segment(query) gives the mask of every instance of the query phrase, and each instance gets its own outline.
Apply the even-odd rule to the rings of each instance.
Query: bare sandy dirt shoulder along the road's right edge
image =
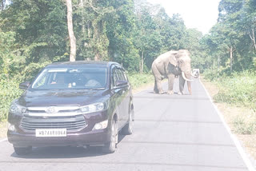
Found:
[[[218,93],[218,86],[214,85],[214,83],[206,81],[204,79],[201,79],[203,85],[205,85],[208,93],[210,93],[210,96],[213,98],[215,94]],[[235,124],[234,121],[238,119],[238,117],[247,117],[250,118],[251,116],[251,110],[246,109],[244,107],[238,107],[238,106],[232,106],[230,104],[226,103],[218,103],[214,101],[214,104],[218,107],[218,110],[220,113],[222,113],[222,116],[224,117],[226,123],[229,125],[232,133],[236,137],[238,137],[238,140],[246,150],[246,153],[249,153],[251,157],[256,159],[256,135],[255,134],[238,134],[235,132]]]

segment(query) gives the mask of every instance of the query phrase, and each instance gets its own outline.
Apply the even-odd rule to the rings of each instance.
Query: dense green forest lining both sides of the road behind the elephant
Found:
[[[159,54],[186,49],[193,68],[206,78],[246,74],[256,85],[255,0],[221,0],[208,34],[186,28],[179,14],[168,16],[146,0],[73,0],[72,5],[78,61],[114,61],[130,74],[146,74]],[[66,18],[64,0],[0,0],[0,121],[21,94],[20,82],[47,64],[70,60]],[[254,101],[254,89],[248,91],[246,101]]]

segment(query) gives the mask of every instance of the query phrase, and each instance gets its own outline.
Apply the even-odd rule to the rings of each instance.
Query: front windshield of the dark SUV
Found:
[[[105,89],[106,68],[50,68],[39,74],[32,89]]]

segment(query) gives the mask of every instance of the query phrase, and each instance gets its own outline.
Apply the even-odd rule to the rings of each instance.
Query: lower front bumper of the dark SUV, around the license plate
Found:
[[[101,146],[110,141],[108,129],[95,130],[88,133],[67,133],[66,137],[35,137],[35,133],[23,134],[9,130],[7,137],[8,141],[16,147]]]

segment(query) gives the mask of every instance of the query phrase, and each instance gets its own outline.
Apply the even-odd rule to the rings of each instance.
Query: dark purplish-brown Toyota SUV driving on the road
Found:
[[[10,106],[8,140],[17,154],[32,146],[102,146],[114,153],[118,132],[131,134],[131,86],[116,62],[58,62],[46,66]]]

